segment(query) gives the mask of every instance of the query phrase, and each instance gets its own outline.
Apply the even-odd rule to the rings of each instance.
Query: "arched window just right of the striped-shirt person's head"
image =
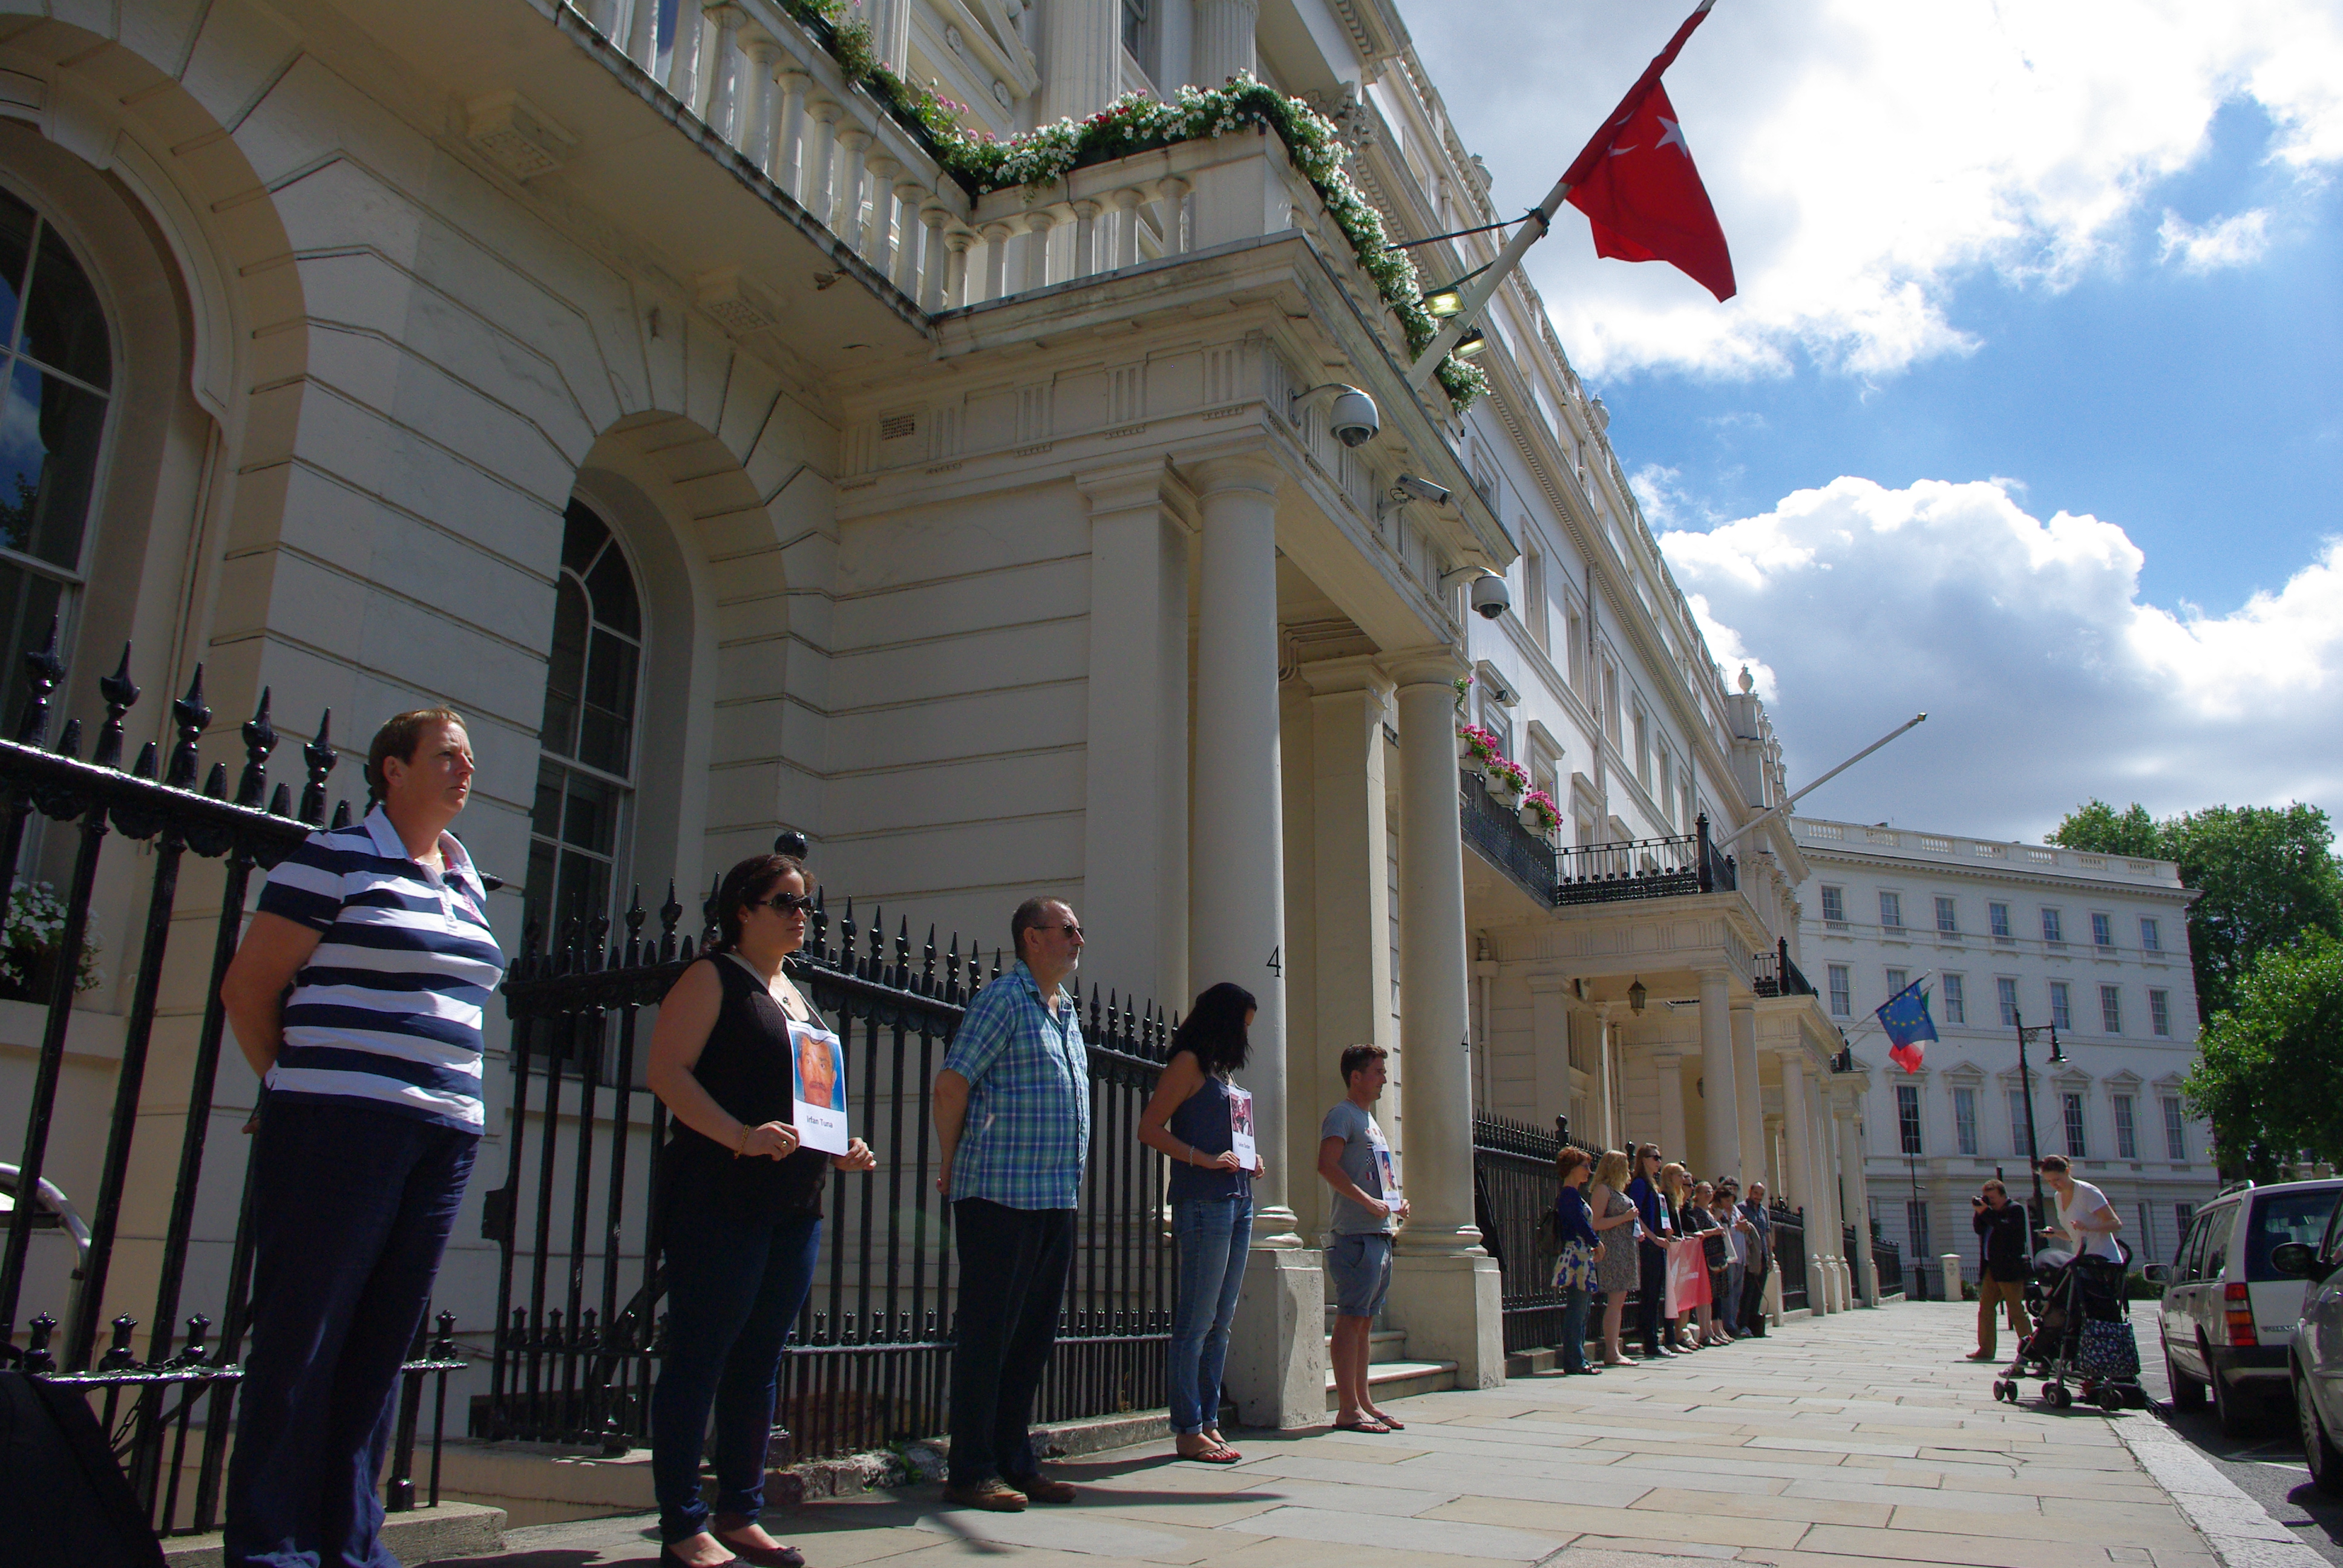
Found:
[[[612,914],[633,834],[642,598],[619,541],[581,502],[562,518],[555,595],[525,898],[546,942]]]

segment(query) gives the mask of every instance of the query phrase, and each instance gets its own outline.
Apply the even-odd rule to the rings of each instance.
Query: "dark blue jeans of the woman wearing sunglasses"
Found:
[[[813,1259],[820,1214],[747,1219],[675,1193],[663,1219],[668,1259],[668,1352],[651,1390],[651,1491],[658,1538],[691,1540],[708,1528],[701,1451],[708,1411],[717,1418],[719,1514],[764,1512],[764,1465],[790,1338]]]

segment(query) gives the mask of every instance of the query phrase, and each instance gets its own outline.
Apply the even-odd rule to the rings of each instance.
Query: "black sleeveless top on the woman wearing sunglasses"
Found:
[[[710,963],[717,966],[724,1001],[691,1076],[745,1127],[794,1123],[790,1015],[738,959],[717,954]],[[682,1120],[672,1127],[661,1172],[665,1202],[705,1205],[733,1219],[820,1216],[822,1181],[829,1177],[829,1155],[820,1148],[797,1148],[785,1160],[738,1158]]]

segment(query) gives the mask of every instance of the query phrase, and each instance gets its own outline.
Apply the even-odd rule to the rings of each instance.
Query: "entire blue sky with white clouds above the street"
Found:
[[[1687,0],[1401,9],[1518,213]],[[1720,0],[1668,91],[1741,295],[1528,272],[1792,780],[1931,713],[1809,806],[2343,813],[2343,0]]]

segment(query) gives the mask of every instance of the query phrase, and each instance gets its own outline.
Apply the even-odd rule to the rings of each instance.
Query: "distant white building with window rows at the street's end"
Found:
[[[1907,827],[1797,818],[1809,973],[1846,1029],[1870,1090],[1870,1216],[1905,1256],[1961,1254],[1975,1277],[1968,1200],[2001,1174],[2029,1200],[2017,1024],[2034,1137],[2106,1191],[2134,1266],[2170,1261],[2216,1191],[2209,1127],[2188,1116],[2195,1062],[2188,902],[2170,860],[2092,855]],[[1938,1043],[1919,1073],[1886,1057],[1872,1010],[1928,987]]]

